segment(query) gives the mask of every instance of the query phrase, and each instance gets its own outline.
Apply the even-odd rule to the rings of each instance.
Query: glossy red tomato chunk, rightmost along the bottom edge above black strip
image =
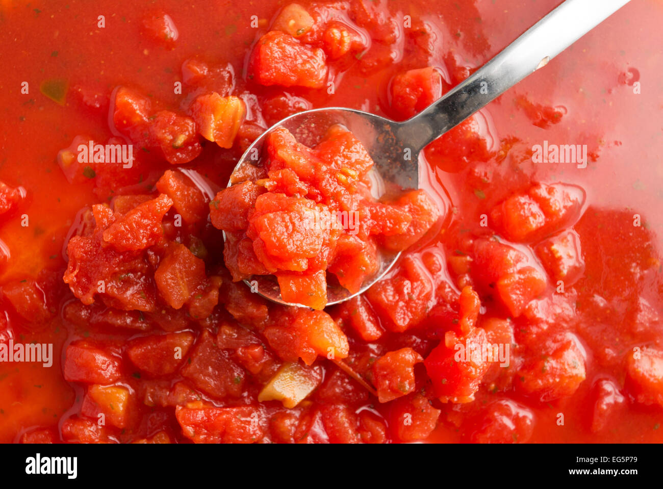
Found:
[[[534,431],[534,413],[512,400],[489,404],[481,415],[472,443],[526,443]]]

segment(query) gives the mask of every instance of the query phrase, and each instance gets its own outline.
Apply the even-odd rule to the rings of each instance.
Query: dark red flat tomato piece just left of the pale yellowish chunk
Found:
[[[182,375],[213,398],[238,398],[244,388],[245,373],[215,345],[213,336],[203,331],[188,358]]]

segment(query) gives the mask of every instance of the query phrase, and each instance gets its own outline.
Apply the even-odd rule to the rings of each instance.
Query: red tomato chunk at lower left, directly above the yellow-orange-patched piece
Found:
[[[120,359],[86,341],[74,341],[64,357],[64,378],[68,382],[111,384],[121,376]]]

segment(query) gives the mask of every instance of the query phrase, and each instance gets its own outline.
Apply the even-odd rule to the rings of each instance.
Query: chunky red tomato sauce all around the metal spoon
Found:
[[[0,3],[0,343],[53,351],[0,362],[0,441],[662,441],[659,2],[430,144],[440,219],[361,297],[223,265],[269,125],[411,117],[558,3]]]

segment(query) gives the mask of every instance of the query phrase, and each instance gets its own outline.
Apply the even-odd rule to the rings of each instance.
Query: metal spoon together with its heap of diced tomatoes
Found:
[[[367,290],[440,221],[443,209],[419,189],[420,151],[628,2],[566,0],[406,121],[331,107],[273,125],[212,202],[233,280],[314,309]]]

